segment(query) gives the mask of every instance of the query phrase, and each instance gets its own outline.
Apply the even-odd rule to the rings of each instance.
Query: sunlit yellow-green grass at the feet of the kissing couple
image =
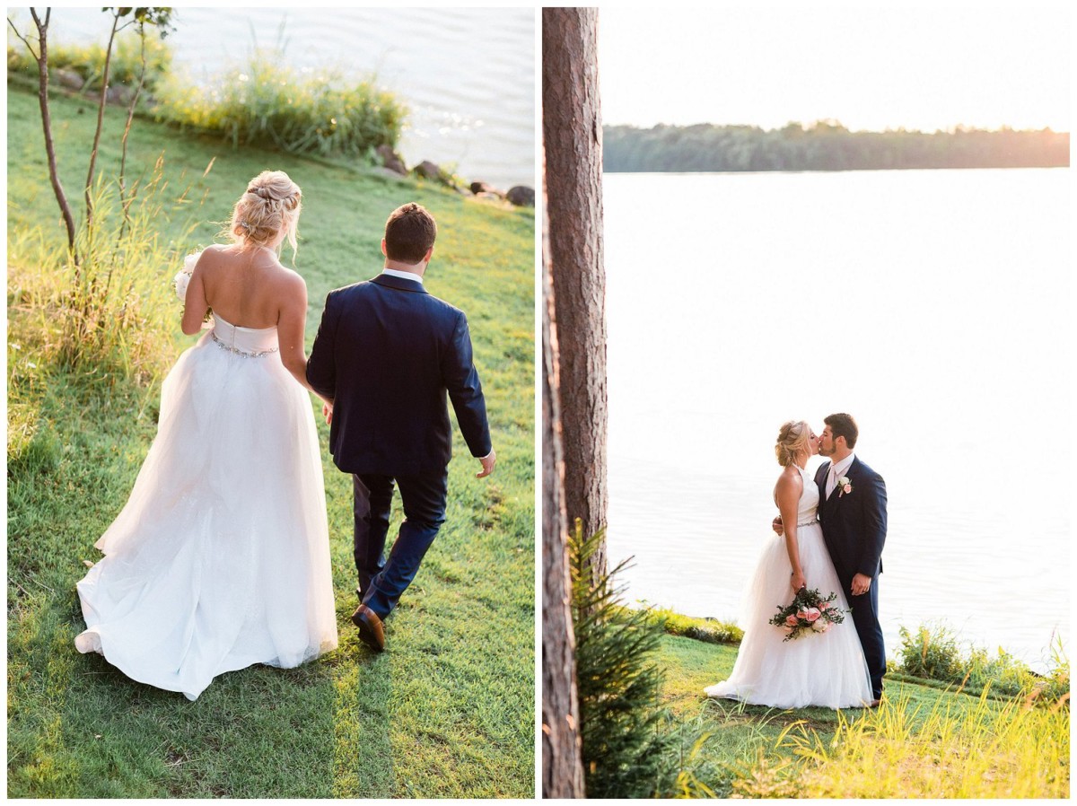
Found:
[[[656,657],[674,723],[705,737],[685,748],[685,766],[717,796],[1068,796],[1067,705],[1029,707],[894,675],[875,710],[707,698],[703,689],[729,677],[737,651],[663,636]]]

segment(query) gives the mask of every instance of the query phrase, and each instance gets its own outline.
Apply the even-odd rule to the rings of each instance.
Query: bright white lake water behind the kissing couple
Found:
[[[844,411],[889,494],[887,655],[928,621],[1068,649],[1067,170],[607,173],[604,207],[629,601],[736,620],[779,426]]]

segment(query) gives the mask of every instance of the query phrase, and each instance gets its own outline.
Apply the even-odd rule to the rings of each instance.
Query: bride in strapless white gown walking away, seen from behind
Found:
[[[278,260],[299,209],[288,175],[264,171],[233,211],[234,244],[198,259],[183,332],[210,307],[213,329],[165,379],[157,436],[78,584],[79,651],[188,699],[223,672],[337,645],[307,289]]]

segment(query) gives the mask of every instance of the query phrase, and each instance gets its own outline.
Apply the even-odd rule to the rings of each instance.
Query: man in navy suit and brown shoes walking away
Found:
[[[496,455],[472,360],[463,311],[423,288],[437,237],[433,216],[416,204],[386,222],[382,273],[331,291],[307,362],[307,380],[326,406],[330,451],[352,474],[354,556],[360,604],[351,620],[381,652],[382,622],[419,570],[445,523],[452,430],[446,394],[484,478]],[[393,486],[404,523],[384,556]]]

